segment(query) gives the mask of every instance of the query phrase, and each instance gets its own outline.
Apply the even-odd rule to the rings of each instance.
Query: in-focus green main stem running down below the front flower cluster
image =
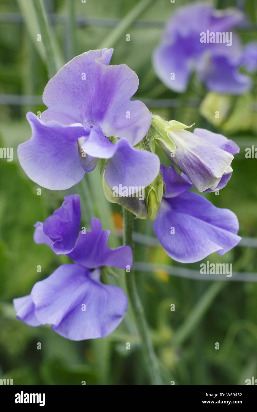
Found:
[[[133,250],[132,230],[133,230],[134,216],[131,212],[123,208],[123,243],[129,245]],[[141,344],[143,350],[143,356],[151,381],[151,385],[162,385],[162,379],[160,376],[158,360],[154,352],[153,344],[151,341],[150,333],[144,316],[144,308],[141,304],[138,292],[134,271],[128,274],[126,273],[127,291],[132,304],[135,320],[137,323],[137,329],[141,337]]]

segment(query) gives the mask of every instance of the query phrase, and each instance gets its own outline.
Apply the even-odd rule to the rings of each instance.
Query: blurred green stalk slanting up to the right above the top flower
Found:
[[[106,37],[99,45],[99,49],[109,49],[114,47],[120,37],[125,33],[135,20],[151,5],[153,0],[140,0],[135,7],[125,16],[124,19],[113,29],[113,31]]]

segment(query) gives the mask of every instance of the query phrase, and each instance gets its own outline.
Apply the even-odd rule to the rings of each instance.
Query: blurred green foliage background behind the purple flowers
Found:
[[[2,16],[20,14],[19,5],[24,0],[2,0]],[[27,4],[29,1],[27,2]],[[124,19],[138,1],[131,0],[74,0],[76,16],[96,19]],[[156,0],[139,17],[140,21],[165,22],[176,7],[188,1]],[[69,18],[70,2],[46,1],[50,12]],[[215,2],[217,8],[236,5],[236,1]],[[257,4],[245,1],[245,10],[251,23],[256,24]],[[47,83],[47,70],[40,57],[37,44],[32,42],[26,26],[10,21],[0,22],[0,94],[42,96]],[[30,20],[31,30],[35,21]],[[64,60],[74,55],[104,45],[113,28],[100,27],[99,22],[76,27],[75,50],[70,47],[70,29],[57,23],[53,31],[57,36]],[[125,34],[130,34],[126,42]],[[242,41],[257,40],[254,29],[239,31]],[[172,93],[160,83],[151,66],[151,53],[158,44],[161,28],[131,26],[120,36],[114,47],[112,64],[126,63],[139,77],[136,96],[144,99],[177,98],[176,108],[156,108],[152,112],[167,119],[177,119],[185,124],[196,122],[204,127],[223,132],[200,115],[199,107],[187,105],[186,98],[202,100],[207,90],[194,81],[186,95]],[[39,46],[39,45],[38,45]],[[255,86],[251,101],[256,99]],[[233,176],[219,196],[207,194],[216,206],[230,208],[240,222],[241,236],[256,237],[257,185],[256,159],[245,159],[245,147],[257,147],[256,113],[250,112],[243,101],[238,102],[233,123],[227,127],[226,136],[241,147],[233,162]],[[43,221],[61,204],[66,193],[51,192],[42,188],[37,196],[37,185],[25,175],[17,161],[17,145],[31,136],[25,114],[45,110],[43,104],[2,104],[0,110],[0,147],[14,148],[14,161],[0,159],[0,375],[13,379],[14,385],[147,385],[149,384],[139,350],[139,338],[130,311],[119,328],[101,339],[72,342],[54,333],[50,327],[32,328],[15,318],[12,299],[30,293],[33,284],[51,274],[64,262],[44,245],[33,242],[33,224]],[[233,115],[235,105],[229,108]],[[242,127],[245,116],[252,123]],[[40,154],[39,154],[40,155]],[[162,157],[162,155],[160,154]],[[162,157],[162,161],[166,160]],[[167,164],[166,164],[167,165]],[[90,192],[88,192],[88,190]],[[112,229],[109,245],[120,245],[121,210],[109,204],[101,189],[99,170],[89,173],[87,180],[69,192],[79,193],[83,199],[82,223],[88,227],[94,215],[101,218],[104,229]],[[150,220],[135,221],[135,230],[153,236]],[[223,257],[209,256],[210,262],[233,263],[233,270],[257,272],[256,248],[238,246]],[[135,261],[155,264],[137,272],[139,293],[151,328],[153,342],[161,365],[164,384],[170,385],[243,385],[245,379],[257,377],[257,283],[228,281],[212,283],[172,276],[158,265],[169,265],[199,271],[200,263],[180,265],[173,262],[158,246],[136,243]],[[37,273],[37,266],[42,273]],[[124,287],[124,274],[120,281]],[[257,280],[257,274],[256,274]],[[113,279],[109,279],[113,282]],[[205,299],[205,305],[201,304]],[[175,311],[170,311],[170,304]],[[41,342],[42,349],[37,349]],[[131,349],[126,350],[130,342]],[[220,349],[215,350],[215,342]]]

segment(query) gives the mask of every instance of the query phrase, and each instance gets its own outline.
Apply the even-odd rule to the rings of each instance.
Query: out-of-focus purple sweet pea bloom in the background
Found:
[[[239,71],[245,56],[232,32],[244,21],[240,10],[215,10],[206,2],[179,7],[153,53],[156,74],[177,93],[186,90],[193,72],[216,93],[246,93],[252,81]]]

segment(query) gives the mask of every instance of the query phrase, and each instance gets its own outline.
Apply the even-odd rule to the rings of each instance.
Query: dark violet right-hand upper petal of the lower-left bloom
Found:
[[[101,220],[91,219],[91,232],[80,232],[75,248],[68,254],[75,263],[87,268],[115,266],[125,269],[132,267],[133,257],[130,246],[120,246],[114,250],[107,245],[109,230],[102,229]]]

